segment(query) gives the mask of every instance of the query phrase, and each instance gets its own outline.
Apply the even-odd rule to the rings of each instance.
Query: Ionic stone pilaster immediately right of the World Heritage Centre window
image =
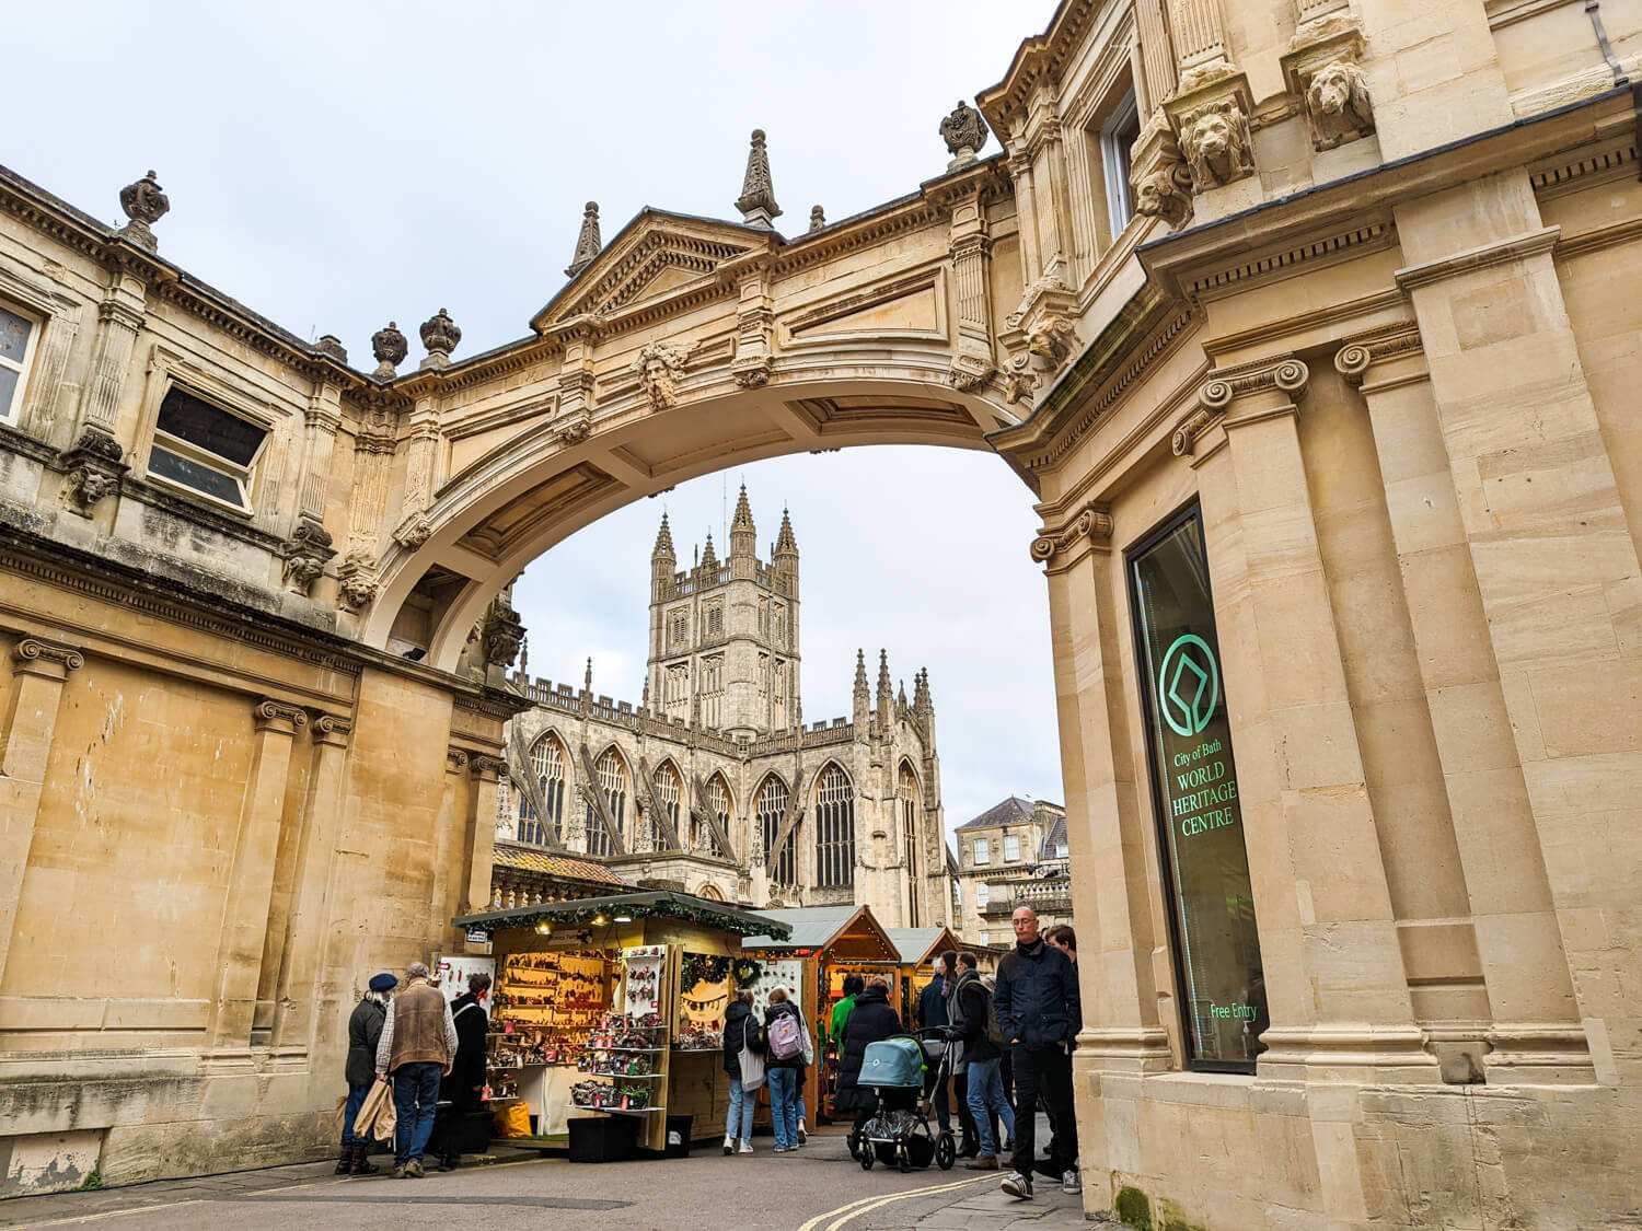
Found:
[[[1277,959],[1264,963],[1273,1024],[1259,1075],[1435,1082],[1409,1000],[1300,455],[1294,399],[1307,378],[1289,358],[1215,371],[1197,414],[1197,432],[1212,428],[1225,443],[1220,481],[1199,491],[1217,624],[1223,602],[1241,607],[1227,614],[1222,658],[1261,950],[1271,936]],[[1192,451],[1200,464],[1218,448]],[[1223,538],[1230,527],[1236,543]],[[1273,903],[1274,893],[1292,901]]]

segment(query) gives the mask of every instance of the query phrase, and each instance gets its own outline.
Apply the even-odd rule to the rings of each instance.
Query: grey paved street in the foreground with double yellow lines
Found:
[[[343,1178],[328,1164],[169,1180],[100,1193],[59,1193],[0,1203],[0,1226],[158,1228],[396,1228],[481,1223],[507,1228],[601,1231],[1051,1231],[1084,1226],[1082,1206],[1059,1187],[1031,1203],[998,1192],[998,1175],[957,1167],[862,1172],[844,1136],[828,1131],[800,1152],[726,1159],[718,1147],[688,1159],[575,1165],[562,1159],[463,1167],[425,1180]],[[388,1172],[384,1170],[383,1175]]]

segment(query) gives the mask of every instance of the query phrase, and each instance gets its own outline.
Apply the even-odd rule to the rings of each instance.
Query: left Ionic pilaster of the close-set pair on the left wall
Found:
[[[274,890],[291,745],[297,730],[307,725],[307,714],[269,699],[256,702],[253,721],[256,745],[240,804],[240,831],[217,942],[217,996],[205,1031],[205,1060],[212,1069],[251,1064],[251,1023]]]

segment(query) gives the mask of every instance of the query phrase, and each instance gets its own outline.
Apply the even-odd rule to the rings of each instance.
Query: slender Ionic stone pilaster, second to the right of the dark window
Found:
[[[1373,425],[1488,988],[1486,1046],[1473,1059],[1493,1082],[1591,1082],[1419,330],[1407,322],[1348,338],[1335,368],[1361,387]],[[1465,1041],[1430,1046],[1442,1055]]]

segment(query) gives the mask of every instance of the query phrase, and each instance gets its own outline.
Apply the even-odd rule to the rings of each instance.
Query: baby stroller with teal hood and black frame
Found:
[[[924,1064],[936,1065],[936,1085],[951,1075],[952,1047],[946,1027],[923,1031],[931,1041],[944,1046],[929,1047],[911,1036],[895,1036],[882,1042],[869,1042],[860,1062],[859,1088],[872,1088],[878,1106],[860,1126],[860,1134],[851,1134],[849,1152],[870,1172],[875,1162],[898,1164],[903,1172],[928,1167],[931,1160],[941,1170],[951,1170],[957,1159],[952,1134],[929,1129],[929,1100],[923,1096]],[[939,1050],[939,1055],[933,1052]],[[929,1088],[934,1090],[936,1085]]]

